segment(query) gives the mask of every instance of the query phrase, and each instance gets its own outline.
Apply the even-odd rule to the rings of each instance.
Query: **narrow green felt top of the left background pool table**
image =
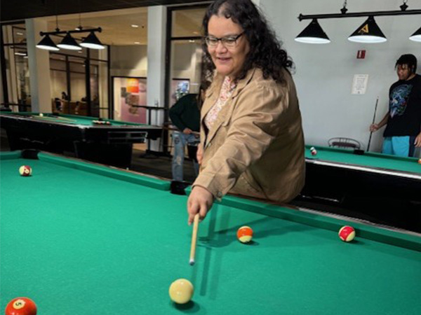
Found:
[[[1,115],[13,115],[13,116],[21,116],[21,117],[30,117],[33,120],[39,121],[46,121],[46,122],[55,122],[55,123],[66,123],[72,125],[86,125],[92,126],[94,120],[98,120],[96,117],[88,117],[88,116],[79,116],[79,115],[68,115],[68,114],[51,114],[51,113],[43,113],[44,116],[39,116],[39,113],[8,113],[2,112]],[[109,121],[112,123],[113,126],[140,126],[145,124],[140,123],[128,123],[122,122],[119,120],[111,120],[111,119],[104,119],[104,121]],[[103,125],[101,125],[103,126]],[[105,125],[106,126],[106,125]]]

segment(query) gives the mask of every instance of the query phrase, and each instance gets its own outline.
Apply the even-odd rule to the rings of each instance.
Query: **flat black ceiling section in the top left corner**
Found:
[[[50,15],[196,2],[198,0],[6,0],[1,1],[0,20],[9,22]]]

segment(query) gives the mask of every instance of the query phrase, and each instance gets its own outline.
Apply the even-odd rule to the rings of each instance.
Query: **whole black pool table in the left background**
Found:
[[[61,113],[43,113],[42,117],[39,113],[0,113],[11,150],[70,151],[76,158],[122,168],[131,166],[133,144],[161,137],[161,127],[117,120],[95,125],[98,119]]]

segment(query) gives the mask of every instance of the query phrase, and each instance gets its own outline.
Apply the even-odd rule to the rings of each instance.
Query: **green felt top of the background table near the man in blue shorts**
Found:
[[[305,157],[309,159],[421,174],[421,164],[418,163],[417,158],[402,158],[394,155],[372,152],[364,152],[363,155],[356,155],[353,153],[354,151],[349,149],[326,148],[322,146],[314,146],[317,155],[313,156],[312,153],[310,153],[311,147],[312,146],[306,146],[305,150]]]

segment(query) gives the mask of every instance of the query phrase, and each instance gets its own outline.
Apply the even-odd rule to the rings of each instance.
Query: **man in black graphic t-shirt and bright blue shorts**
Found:
[[[414,55],[401,55],[395,64],[399,80],[389,89],[389,111],[378,124],[370,125],[375,132],[386,126],[383,153],[413,156],[421,147],[421,76]]]

